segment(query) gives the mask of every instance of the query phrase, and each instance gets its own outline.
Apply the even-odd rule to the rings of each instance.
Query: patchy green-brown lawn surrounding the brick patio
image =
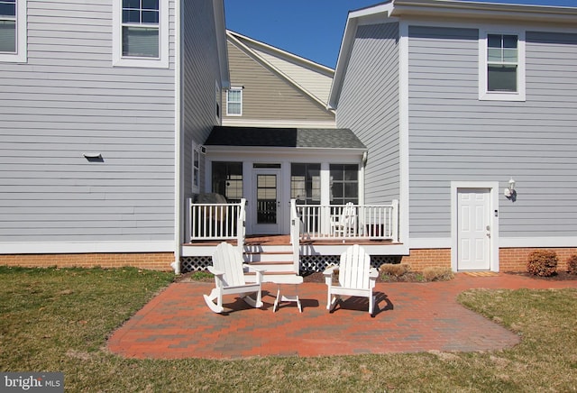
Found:
[[[0,268],[0,370],[62,371],[67,391],[577,391],[577,290],[472,290],[463,305],[522,336],[498,352],[138,361],[105,348],[173,279]]]

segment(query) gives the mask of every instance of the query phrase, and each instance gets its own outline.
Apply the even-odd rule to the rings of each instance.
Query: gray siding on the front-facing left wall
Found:
[[[28,0],[28,61],[0,62],[0,242],[173,239],[173,46],[114,68],[112,0]]]

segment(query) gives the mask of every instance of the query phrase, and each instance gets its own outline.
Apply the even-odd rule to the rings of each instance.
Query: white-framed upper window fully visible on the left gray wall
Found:
[[[114,0],[115,66],[169,66],[168,0]]]

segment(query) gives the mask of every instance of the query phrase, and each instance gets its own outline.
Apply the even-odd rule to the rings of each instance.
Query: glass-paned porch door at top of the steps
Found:
[[[279,234],[283,219],[282,172],[280,169],[255,169],[252,175],[252,233]]]

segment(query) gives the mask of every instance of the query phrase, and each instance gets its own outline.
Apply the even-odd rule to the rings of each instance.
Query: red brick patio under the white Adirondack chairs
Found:
[[[519,343],[517,334],[460,306],[456,302],[460,292],[468,288],[577,288],[577,280],[457,274],[447,282],[378,283],[372,318],[367,299],[345,300],[329,314],[325,284],[309,282],[299,286],[302,314],[294,303],[281,304],[273,313],[276,286],[264,284],[261,309],[229,296],[224,297],[227,312],[218,315],[202,297],[213,287],[213,283],[200,282],[171,284],[112,334],[108,348],[140,359],[499,350]]]

